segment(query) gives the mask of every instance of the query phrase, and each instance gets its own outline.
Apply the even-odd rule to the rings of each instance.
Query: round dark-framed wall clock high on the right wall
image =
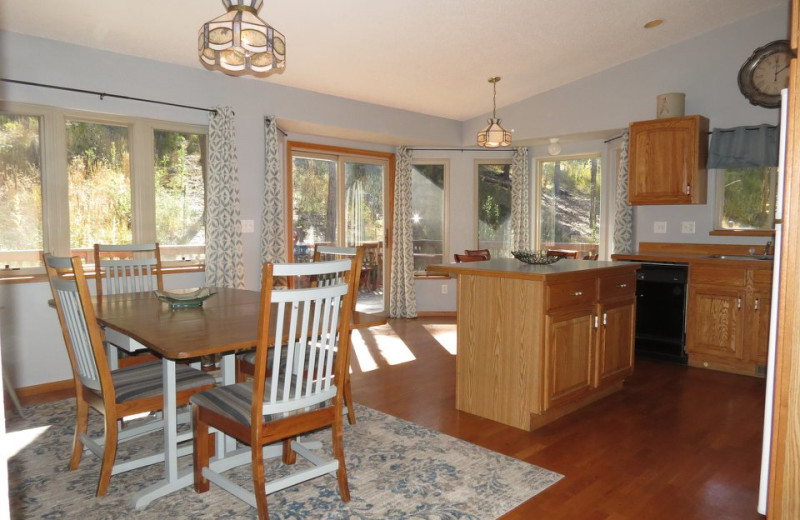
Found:
[[[794,53],[788,40],[759,47],[739,69],[739,90],[750,103],[766,108],[781,105],[781,89],[789,84],[789,62]]]

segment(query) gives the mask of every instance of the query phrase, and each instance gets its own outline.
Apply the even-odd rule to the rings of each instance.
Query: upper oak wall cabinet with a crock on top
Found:
[[[693,115],[630,125],[630,204],[705,204],[708,119]]]

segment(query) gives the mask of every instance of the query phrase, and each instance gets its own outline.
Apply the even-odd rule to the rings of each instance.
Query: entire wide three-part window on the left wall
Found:
[[[155,242],[162,258],[203,260],[206,128],[4,104],[0,265],[41,253],[92,263],[96,242]]]

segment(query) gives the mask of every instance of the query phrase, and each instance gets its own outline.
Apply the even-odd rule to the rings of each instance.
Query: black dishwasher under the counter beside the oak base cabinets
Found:
[[[636,355],[686,364],[685,264],[644,263],[636,273]]]

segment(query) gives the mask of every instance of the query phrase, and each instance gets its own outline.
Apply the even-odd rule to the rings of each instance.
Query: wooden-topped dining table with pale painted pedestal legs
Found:
[[[208,355],[220,355],[220,384],[236,381],[235,354],[255,348],[261,293],[227,287],[210,288],[213,293],[202,306],[174,308],[154,291],[103,295],[95,298],[97,320],[106,340],[128,351],[148,349],[163,365],[164,392],[164,478],[140,490],[133,497],[137,508],[193,483],[191,468],[179,470],[178,458],[191,453],[191,446],[179,447],[175,364],[195,362]],[[276,306],[271,306],[270,338],[274,336]],[[385,315],[354,312],[351,327],[363,329],[386,323]],[[284,327],[283,330],[289,330]],[[288,341],[288,338],[285,338]],[[280,444],[280,443],[279,443]],[[281,446],[274,447],[280,454]],[[237,450],[232,437],[217,435],[217,470],[249,462],[249,449]]]

